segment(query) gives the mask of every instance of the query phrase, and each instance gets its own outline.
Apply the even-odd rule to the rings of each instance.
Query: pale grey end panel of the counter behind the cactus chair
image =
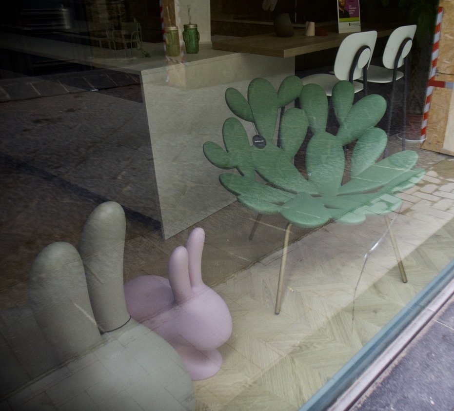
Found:
[[[277,90],[295,67],[293,58],[219,52],[203,44],[200,55],[191,57],[140,72],[159,209],[153,217],[161,222],[164,238],[235,200],[219,184],[222,171],[202,151],[205,141],[222,143],[222,124],[232,116],[225,90],[246,92],[256,77],[267,78]]]

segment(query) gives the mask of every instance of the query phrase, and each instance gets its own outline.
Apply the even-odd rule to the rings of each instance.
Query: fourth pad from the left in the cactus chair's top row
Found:
[[[324,132],[328,121],[328,98],[317,84],[303,86],[299,95],[301,108],[309,120],[309,127],[314,134]]]

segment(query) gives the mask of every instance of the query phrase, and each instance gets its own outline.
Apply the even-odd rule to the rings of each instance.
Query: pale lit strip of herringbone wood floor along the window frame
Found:
[[[294,243],[282,311],[274,314],[281,252],[215,287],[234,323],[224,364],[196,381],[198,410],[297,410],[454,257],[454,163],[444,160],[402,194],[392,230],[408,283],[396,266],[383,217],[330,224]],[[358,283],[359,279],[359,283]],[[357,287],[356,287],[357,286]],[[356,288],[356,290],[355,290]]]

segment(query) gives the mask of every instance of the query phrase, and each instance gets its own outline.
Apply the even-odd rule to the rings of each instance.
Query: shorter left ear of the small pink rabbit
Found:
[[[193,295],[189,280],[188,260],[188,251],[181,246],[174,250],[169,259],[170,288],[178,304],[188,300]]]

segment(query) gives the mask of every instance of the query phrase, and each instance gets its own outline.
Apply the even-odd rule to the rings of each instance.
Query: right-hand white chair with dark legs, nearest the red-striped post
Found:
[[[397,27],[390,35],[386,42],[385,49],[383,51],[383,67],[370,65],[367,70],[367,80],[370,83],[392,83],[393,88],[391,91],[390,104],[388,109],[388,136],[391,130],[391,120],[393,116],[393,105],[394,105],[394,94],[395,94],[395,82],[403,78],[404,79],[404,98],[403,98],[403,136],[402,136],[402,149],[405,148],[405,127],[406,127],[406,111],[407,111],[407,77],[406,73],[406,60],[410,54],[412,48],[413,38],[415,37],[416,25],[408,25]],[[399,71],[398,68],[403,66],[403,72]]]

